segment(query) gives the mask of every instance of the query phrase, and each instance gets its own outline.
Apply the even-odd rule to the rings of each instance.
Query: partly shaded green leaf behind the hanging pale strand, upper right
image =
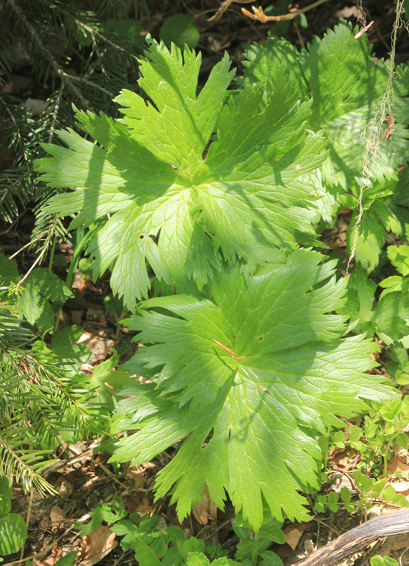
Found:
[[[309,127],[324,129],[330,155],[322,166],[322,178],[330,186],[349,188],[359,179],[365,154],[361,134],[380,109],[386,91],[389,62],[375,64],[365,36],[355,39],[351,24],[341,20],[324,38],[315,37],[302,53],[285,40],[251,45],[245,54],[244,82],[279,80],[300,100],[313,98]],[[383,139],[371,170],[371,180],[394,178],[406,162],[409,144],[404,127],[408,123],[409,68],[397,67],[394,78],[395,131]],[[385,123],[386,128],[386,123]],[[383,133],[383,131],[381,132]]]

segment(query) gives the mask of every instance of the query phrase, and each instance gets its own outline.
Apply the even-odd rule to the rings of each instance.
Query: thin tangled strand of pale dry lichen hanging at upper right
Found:
[[[378,145],[381,143],[381,130],[382,125],[385,121],[386,114],[393,114],[392,106],[393,106],[393,77],[394,77],[394,66],[395,66],[395,45],[396,45],[396,37],[398,28],[403,25],[402,14],[403,14],[403,0],[395,0],[395,23],[393,26],[392,32],[392,40],[391,40],[391,51],[390,51],[390,66],[389,66],[389,76],[388,76],[388,84],[386,85],[386,92],[384,97],[382,98],[380,109],[374,115],[372,122],[370,122],[363,131],[361,135],[361,139],[367,142],[364,162],[362,167],[362,176],[361,182],[359,187],[359,199],[358,199],[358,217],[356,218],[356,222],[354,225],[354,242],[352,243],[352,249],[350,257],[348,258],[347,264],[347,273],[351,265],[352,259],[355,256],[356,245],[358,243],[358,227],[363,215],[363,207],[362,207],[362,199],[365,190],[371,186],[371,175],[374,164],[376,162],[377,153],[378,153]],[[389,127],[389,125],[388,125]],[[369,128],[369,136],[367,137],[366,132]]]

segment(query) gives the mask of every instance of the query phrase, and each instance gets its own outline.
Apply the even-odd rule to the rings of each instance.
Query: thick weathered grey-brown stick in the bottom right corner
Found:
[[[333,566],[380,538],[402,533],[409,533],[409,511],[374,517],[342,534],[335,541],[318,548],[292,566]]]

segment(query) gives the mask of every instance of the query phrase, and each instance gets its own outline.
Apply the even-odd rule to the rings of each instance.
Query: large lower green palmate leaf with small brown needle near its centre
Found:
[[[112,460],[143,462],[187,437],[158,479],[158,496],[174,486],[180,516],[206,483],[214,503],[223,505],[226,489],[256,529],[262,496],[278,518],[281,509],[306,517],[297,490],[317,484],[316,431],[364,410],[364,398],[393,398],[382,378],[362,374],[374,345],[341,339],[346,316],[331,313],[345,302],[347,280],[336,282],[334,262],[321,261],[295,251],[248,284],[234,265],[209,282],[214,302],[150,299],[130,319],[150,345],[126,367],[154,383],[124,390],[131,397],[119,402],[117,426],[139,432]]]

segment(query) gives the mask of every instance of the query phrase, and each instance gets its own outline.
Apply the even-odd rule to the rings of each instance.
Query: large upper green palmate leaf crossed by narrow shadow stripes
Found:
[[[311,102],[270,84],[262,113],[263,88],[223,106],[229,67],[226,54],[196,96],[200,55],[152,42],[140,86],[154,105],[123,91],[120,122],[77,112],[97,144],[62,131],[68,148],[47,145],[53,157],[38,162],[49,185],[75,190],[49,204],[76,215],[71,228],[109,216],[89,246],[93,273],[111,268],[114,293],[131,310],[150,287],[147,264],[171,293],[174,284],[194,293],[189,278],[201,289],[223,258],[252,272],[277,261],[277,248],[317,243],[305,208],[321,195],[307,175],[325,153],[322,136],[305,129]]]

